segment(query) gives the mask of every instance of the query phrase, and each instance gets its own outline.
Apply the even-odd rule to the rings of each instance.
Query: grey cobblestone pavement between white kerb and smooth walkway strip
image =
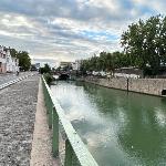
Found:
[[[39,76],[0,91],[0,166],[29,166]]]

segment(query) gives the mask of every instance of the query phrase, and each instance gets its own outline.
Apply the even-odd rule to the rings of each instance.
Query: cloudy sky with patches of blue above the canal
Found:
[[[128,24],[165,14],[165,0],[0,0],[0,45],[35,62],[122,51]]]

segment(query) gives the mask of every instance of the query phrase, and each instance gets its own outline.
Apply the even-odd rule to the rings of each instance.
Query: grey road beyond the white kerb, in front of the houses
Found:
[[[34,72],[20,72],[19,76],[17,76],[15,73],[0,74],[0,85],[9,81],[15,80],[18,77],[21,77],[23,75],[28,75],[30,73],[34,73]]]

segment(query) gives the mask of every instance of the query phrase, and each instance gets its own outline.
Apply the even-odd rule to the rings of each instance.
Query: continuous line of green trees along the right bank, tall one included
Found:
[[[100,56],[83,60],[82,71],[114,71],[123,66],[136,66],[151,74],[158,74],[166,64],[166,17],[156,15],[128,25],[123,32],[123,52],[101,52]]]

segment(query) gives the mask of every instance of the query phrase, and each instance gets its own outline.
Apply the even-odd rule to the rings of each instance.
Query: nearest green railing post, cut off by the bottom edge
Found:
[[[64,159],[64,166],[72,166],[72,158],[73,158],[73,148],[69,142],[69,139],[65,141],[65,159]]]

